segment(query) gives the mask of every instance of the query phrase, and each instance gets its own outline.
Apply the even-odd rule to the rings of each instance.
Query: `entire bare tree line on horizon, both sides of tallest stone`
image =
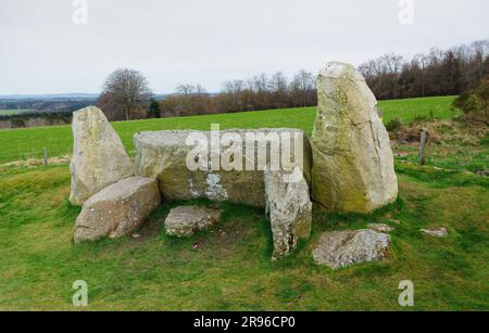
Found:
[[[431,49],[411,59],[388,53],[359,66],[378,100],[459,95],[489,76],[489,40],[448,50]],[[151,101],[146,78],[118,69],[105,81],[98,105],[111,120],[256,111],[317,104],[316,77],[300,71],[225,81],[217,93],[201,85],[179,85],[176,93]]]

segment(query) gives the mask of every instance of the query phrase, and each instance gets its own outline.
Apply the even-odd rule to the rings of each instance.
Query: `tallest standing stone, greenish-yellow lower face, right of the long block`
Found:
[[[351,65],[330,63],[317,79],[312,195],[330,212],[369,213],[396,201],[398,181],[377,101]]]

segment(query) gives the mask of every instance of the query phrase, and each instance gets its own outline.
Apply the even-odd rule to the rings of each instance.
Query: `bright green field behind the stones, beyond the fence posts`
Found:
[[[381,101],[384,120],[400,118],[404,123],[416,116],[427,116],[430,112],[437,118],[447,119],[455,115],[451,111],[453,97],[427,98],[399,101]],[[236,114],[190,116],[164,119],[114,123],[129,154],[134,153],[133,136],[138,131],[163,129],[200,129],[210,130],[211,124],[226,128],[300,128],[312,132],[316,107],[287,108]],[[42,157],[42,149],[49,149],[52,156],[68,155],[72,152],[72,131],[68,126],[40,127],[16,130],[0,130],[0,164]]]

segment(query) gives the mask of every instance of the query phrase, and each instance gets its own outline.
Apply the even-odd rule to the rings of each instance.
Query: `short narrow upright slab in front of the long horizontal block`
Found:
[[[309,239],[312,203],[308,182],[285,182],[283,171],[265,171],[266,214],[274,239],[274,259],[292,253],[301,239]],[[301,175],[302,176],[302,175]]]

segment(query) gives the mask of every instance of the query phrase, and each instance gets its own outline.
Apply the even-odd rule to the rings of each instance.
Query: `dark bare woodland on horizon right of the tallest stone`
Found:
[[[404,59],[385,54],[359,66],[378,100],[457,95],[489,75],[489,40]]]

